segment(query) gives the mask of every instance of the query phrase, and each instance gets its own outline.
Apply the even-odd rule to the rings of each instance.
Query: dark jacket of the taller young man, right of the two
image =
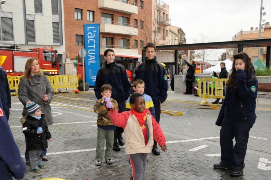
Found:
[[[168,82],[167,72],[156,56],[146,60],[137,68],[134,80],[142,79],[145,82],[145,94],[149,95],[154,104],[163,103],[167,98]]]

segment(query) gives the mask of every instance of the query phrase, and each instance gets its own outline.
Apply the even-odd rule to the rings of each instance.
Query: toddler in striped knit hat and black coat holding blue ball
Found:
[[[51,133],[45,124],[44,114],[40,106],[35,102],[26,105],[28,116],[22,118],[22,132],[26,139],[26,149],[29,151],[31,171],[41,172],[46,168],[41,161],[42,148],[48,148],[48,141],[51,139]]]

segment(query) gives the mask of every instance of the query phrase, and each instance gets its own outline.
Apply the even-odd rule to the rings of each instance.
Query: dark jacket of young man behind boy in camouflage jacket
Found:
[[[94,86],[97,99],[102,98],[100,88],[103,84],[110,84],[112,86],[112,98],[116,101],[126,101],[130,96],[131,83],[128,79],[126,69],[115,61],[110,64],[105,62],[105,65],[97,73]]]

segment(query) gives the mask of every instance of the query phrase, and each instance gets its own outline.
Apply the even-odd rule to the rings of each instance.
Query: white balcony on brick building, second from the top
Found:
[[[138,35],[138,29],[133,25],[119,23],[119,22],[110,22],[101,21],[100,23],[100,33],[109,33],[109,34],[121,34],[121,35]]]

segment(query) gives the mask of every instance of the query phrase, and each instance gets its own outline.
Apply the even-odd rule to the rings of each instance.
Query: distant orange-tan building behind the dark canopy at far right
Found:
[[[249,31],[240,31],[232,37],[232,41],[236,40],[251,40],[251,39],[258,39],[259,38],[259,30],[258,27],[253,28],[251,27]],[[261,39],[264,38],[271,38],[271,26],[269,22],[266,22],[264,28],[261,29]],[[258,50],[259,59],[265,60],[266,59],[266,47],[249,47],[243,48],[243,51],[251,57],[252,62],[255,62],[258,59]],[[237,49],[227,49],[226,50],[226,58],[233,60],[233,55],[237,53]]]

